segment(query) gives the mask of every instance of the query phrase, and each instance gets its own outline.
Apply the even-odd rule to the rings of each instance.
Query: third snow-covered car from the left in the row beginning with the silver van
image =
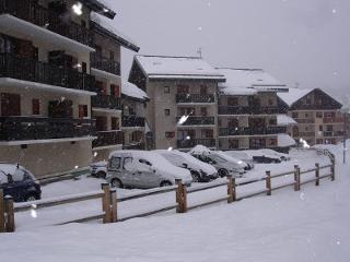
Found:
[[[192,148],[189,154],[199,160],[212,165],[220,177],[232,175],[242,177],[245,174],[247,164],[218,151],[198,151],[198,147]]]

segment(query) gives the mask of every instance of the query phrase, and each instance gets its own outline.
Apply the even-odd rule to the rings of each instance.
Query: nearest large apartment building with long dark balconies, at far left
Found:
[[[95,0],[0,3],[0,160],[37,177],[92,160],[96,95],[90,14],[113,19]]]

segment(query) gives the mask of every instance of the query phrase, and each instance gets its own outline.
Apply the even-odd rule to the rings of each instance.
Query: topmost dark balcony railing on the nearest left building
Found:
[[[92,33],[88,28],[73,21],[67,21],[66,16],[63,17],[54,10],[46,9],[35,1],[1,0],[0,14],[2,13],[45,27],[83,45],[92,46],[93,44]]]

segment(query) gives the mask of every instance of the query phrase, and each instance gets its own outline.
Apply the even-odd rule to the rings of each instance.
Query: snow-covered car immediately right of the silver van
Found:
[[[158,150],[154,151],[164,156],[170,163],[177,167],[186,168],[190,171],[194,182],[209,182],[219,177],[217,169],[196,157],[176,150]]]

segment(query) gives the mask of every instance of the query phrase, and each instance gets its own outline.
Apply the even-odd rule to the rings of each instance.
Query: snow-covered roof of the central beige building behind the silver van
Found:
[[[201,58],[136,56],[143,72],[150,79],[214,79],[224,76]]]

